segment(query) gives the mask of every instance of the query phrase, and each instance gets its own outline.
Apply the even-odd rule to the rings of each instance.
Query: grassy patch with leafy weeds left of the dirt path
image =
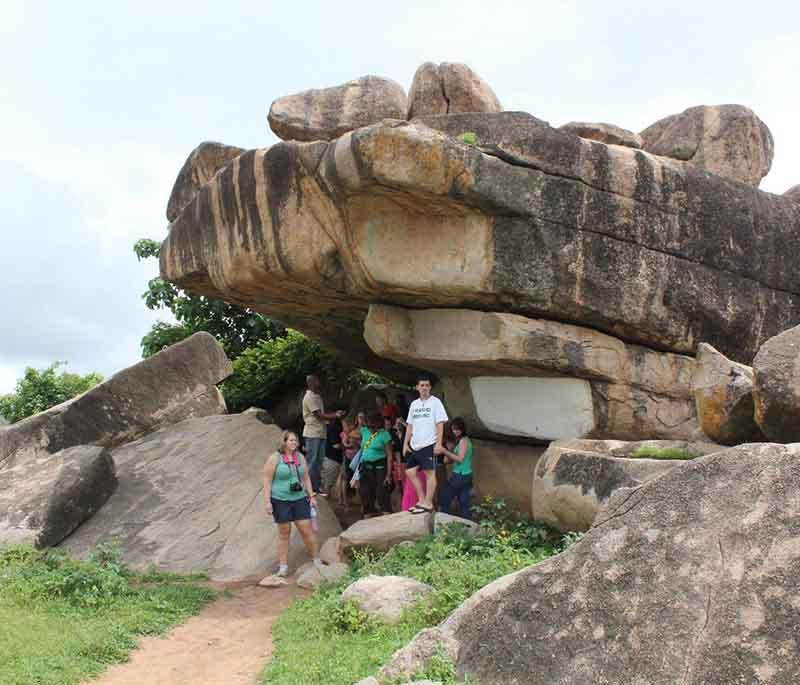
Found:
[[[216,593],[129,572],[110,547],[90,561],[0,547],[0,683],[71,685],[125,661],[141,635],[196,614]]]

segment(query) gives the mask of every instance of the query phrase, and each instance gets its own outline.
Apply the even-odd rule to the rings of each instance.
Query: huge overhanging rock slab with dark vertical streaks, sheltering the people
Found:
[[[745,363],[800,320],[789,199],[525,114],[419,122],[241,155],[172,223],[162,275],[405,380],[363,340],[369,304],[571,321],[673,352],[706,341]]]

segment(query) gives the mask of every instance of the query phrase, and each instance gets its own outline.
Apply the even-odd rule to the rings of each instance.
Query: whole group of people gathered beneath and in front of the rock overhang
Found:
[[[473,445],[464,420],[448,420],[444,405],[431,395],[430,377],[417,379],[419,397],[405,406],[379,393],[375,410],[347,417],[326,412],[320,380],[308,376],[303,397],[303,443],[286,431],[280,448],[264,467],[267,513],[278,526],[278,575],[288,575],[291,524],[316,564],[317,543],[311,518],[316,497],[335,496],[343,504],[357,492],[365,518],[406,510],[412,514],[439,509],[470,518]],[[447,464],[452,464],[447,477]],[[438,486],[438,487],[437,487]]]

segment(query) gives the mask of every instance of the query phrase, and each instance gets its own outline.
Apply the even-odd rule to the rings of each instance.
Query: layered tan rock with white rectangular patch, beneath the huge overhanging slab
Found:
[[[691,357],[590,328],[372,305],[364,338],[381,357],[439,374],[449,411],[475,435],[686,440],[698,430]]]

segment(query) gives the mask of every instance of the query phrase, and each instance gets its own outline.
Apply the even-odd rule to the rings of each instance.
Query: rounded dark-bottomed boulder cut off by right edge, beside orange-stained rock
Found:
[[[755,420],[773,442],[800,442],[800,326],[761,347],[753,360]]]

